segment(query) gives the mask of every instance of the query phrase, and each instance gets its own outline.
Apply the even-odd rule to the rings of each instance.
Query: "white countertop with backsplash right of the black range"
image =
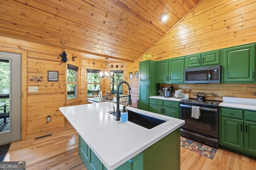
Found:
[[[256,99],[223,97],[222,107],[256,110]]]

